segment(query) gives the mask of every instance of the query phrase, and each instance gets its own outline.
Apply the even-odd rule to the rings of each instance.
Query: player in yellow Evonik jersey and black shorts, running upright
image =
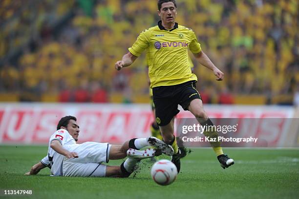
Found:
[[[175,22],[177,7],[175,0],[158,0],[158,25],[144,30],[122,60],[115,63],[115,69],[131,65],[146,50],[149,63],[150,87],[156,109],[156,121],[165,143],[174,150],[171,161],[180,171],[180,155],[174,137],[174,116],[178,114],[177,105],[189,110],[201,125],[213,126],[212,121],[203,109],[188,61],[188,48],[195,58],[211,69],[216,80],[223,80],[224,74],[212,63],[202,51],[192,29]],[[205,136],[215,138],[217,132],[206,131]],[[234,164],[234,160],[223,154],[219,142],[210,142],[217,159],[223,168]]]

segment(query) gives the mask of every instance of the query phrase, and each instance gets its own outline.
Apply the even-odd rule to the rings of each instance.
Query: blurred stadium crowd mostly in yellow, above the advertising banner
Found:
[[[0,57],[22,49],[17,60],[4,60],[0,67],[1,93],[59,93],[59,101],[77,102],[109,102],[113,93],[124,94],[125,101],[148,95],[145,59],[121,72],[114,70],[114,63],[140,32],[156,24],[156,1],[46,0],[33,7],[34,0],[25,6],[20,2],[3,0],[6,7],[0,6],[4,27]],[[298,0],[177,0],[177,4],[176,21],[198,34],[203,51],[225,73],[224,82],[217,82],[194,61],[204,102],[214,102],[216,96],[218,103],[234,103],[234,95],[258,94],[271,103],[273,96],[295,93]],[[73,16],[59,31],[51,30],[49,24],[70,10]]]

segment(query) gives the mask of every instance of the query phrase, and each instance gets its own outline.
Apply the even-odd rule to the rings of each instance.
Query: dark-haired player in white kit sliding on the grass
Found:
[[[35,175],[41,169],[49,167],[53,176],[128,177],[141,159],[161,153],[169,156],[173,154],[170,145],[154,137],[130,139],[123,145],[99,142],[77,144],[79,132],[75,117],[66,116],[60,119],[57,131],[49,139],[48,156],[25,175]],[[146,146],[154,146],[156,149],[139,150]],[[109,159],[123,159],[126,156],[128,159],[121,166],[102,164]]]

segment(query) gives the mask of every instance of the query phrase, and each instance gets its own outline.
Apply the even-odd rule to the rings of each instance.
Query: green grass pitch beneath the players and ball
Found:
[[[36,199],[295,199],[299,196],[298,149],[224,149],[235,165],[223,170],[210,148],[192,149],[169,186],[150,178],[150,162],[128,179],[24,176],[47,153],[46,146],[0,146],[0,198]],[[110,161],[120,165],[122,160]],[[4,196],[7,189],[32,190],[30,196]]]

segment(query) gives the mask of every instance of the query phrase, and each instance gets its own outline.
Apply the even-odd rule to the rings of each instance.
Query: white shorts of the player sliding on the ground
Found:
[[[64,145],[70,152],[76,152],[78,158],[64,158],[63,176],[105,177],[111,145],[109,143],[85,142],[82,144]]]

